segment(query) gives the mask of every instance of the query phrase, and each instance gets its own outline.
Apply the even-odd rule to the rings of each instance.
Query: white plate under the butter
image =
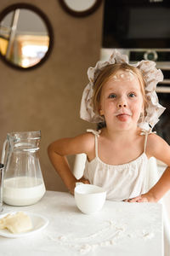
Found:
[[[14,213],[16,213],[16,212],[8,212],[8,213],[3,214],[2,216],[0,216],[0,218],[3,218],[8,214],[14,214]],[[23,232],[23,233],[20,233],[20,234],[13,234],[10,231],[8,231],[7,229],[4,229],[4,230],[0,230],[0,236],[9,237],[9,238],[30,236],[30,235],[36,233],[37,231],[43,230],[45,227],[47,227],[48,218],[45,218],[42,215],[37,214],[37,213],[26,212],[26,214],[28,216],[30,216],[30,218],[31,218],[32,230],[27,231],[27,232]]]

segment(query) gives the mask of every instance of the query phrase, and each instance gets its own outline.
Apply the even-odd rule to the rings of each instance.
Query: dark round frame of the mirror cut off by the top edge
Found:
[[[94,5],[92,5],[91,8],[84,11],[76,11],[76,10],[74,11],[73,9],[70,9],[69,6],[65,3],[65,0],[59,0],[59,3],[68,14],[72,16],[76,16],[77,18],[81,18],[81,17],[93,14],[94,11],[99,8],[99,5],[102,3],[102,0],[96,0],[96,2],[94,3]]]

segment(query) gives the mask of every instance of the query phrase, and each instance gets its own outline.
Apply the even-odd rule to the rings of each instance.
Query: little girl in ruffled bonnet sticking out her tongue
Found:
[[[126,55],[114,50],[109,61],[88,69],[81,118],[103,122],[105,127],[48,147],[49,158],[71,194],[77,179],[65,156],[81,153],[87,154],[87,161],[78,181],[105,188],[109,200],[156,202],[170,189],[170,146],[152,132],[165,109],[156,96],[156,84],[163,76],[155,66],[153,61],[130,65]],[[151,156],[167,165],[153,187],[146,168]]]

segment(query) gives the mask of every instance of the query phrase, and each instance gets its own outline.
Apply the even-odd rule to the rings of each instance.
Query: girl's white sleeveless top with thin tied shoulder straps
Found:
[[[144,153],[136,160],[126,164],[112,166],[105,164],[98,156],[99,132],[88,130],[95,137],[95,158],[90,162],[86,160],[84,177],[91,184],[103,187],[107,191],[106,198],[114,201],[122,201],[144,194],[148,190],[146,170],[148,158],[145,154],[147,135],[144,139]]]

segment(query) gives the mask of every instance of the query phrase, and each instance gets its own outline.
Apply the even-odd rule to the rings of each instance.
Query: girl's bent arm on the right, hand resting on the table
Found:
[[[146,154],[154,156],[157,160],[161,160],[167,165],[167,169],[163,172],[158,182],[144,195],[139,195],[129,201],[152,201],[156,202],[170,189],[170,146],[156,134],[150,134],[146,148]]]

